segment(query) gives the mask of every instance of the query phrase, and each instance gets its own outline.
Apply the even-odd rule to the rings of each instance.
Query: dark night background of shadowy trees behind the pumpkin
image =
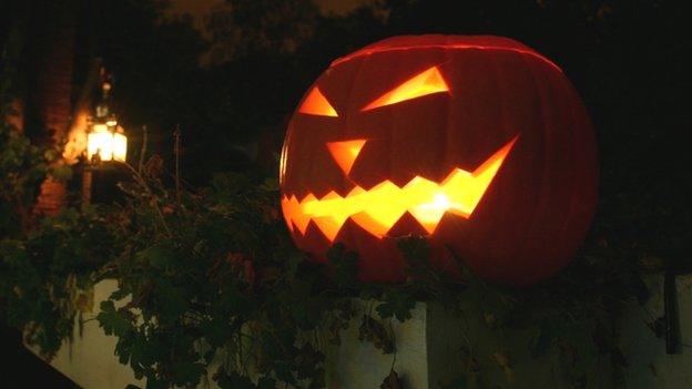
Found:
[[[72,101],[93,59],[102,58],[114,76],[114,108],[132,140],[131,156],[146,124],[150,149],[170,164],[179,125],[183,175],[203,185],[215,171],[273,174],[287,119],[337,57],[397,34],[510,37],[558,63],[591,114],[601,158],[592,234],[689,260],[692,14],[684,1],[383,0],[355,8],[342,1],[339,13],[307,0],[227,0],[205,10],[192,0],[176,3],[194,8],[196,23],[164,1],[2,0],[0,44],[11,29],[41,44],[43,23],[61,12],[74,16]],[[22,69],[28,88],[38,75]],[[26,131],[40,139],[44,130],[35,123]],[[9,365],[0,368],[0,381],[7,382],[31,357],[18,358],[21,347],[6,347],[4,338],[16,337],[3,334],[0,352]]]

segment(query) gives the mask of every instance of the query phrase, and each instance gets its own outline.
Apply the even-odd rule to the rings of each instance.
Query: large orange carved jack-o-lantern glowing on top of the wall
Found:
[[[397,37],[332,63],[288,125],[282,208],[302,249],[336,242],[360,277],[404,279],[396,238],[432,263],[530,284],[562,268],[597,202],[587,112],[560,68],[498,37]]]

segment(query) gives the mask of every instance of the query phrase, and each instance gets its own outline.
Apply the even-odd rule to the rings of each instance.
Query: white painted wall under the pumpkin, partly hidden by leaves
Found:
[[[661,316],[663,310],[661,279],[650,279],[653,297],[647,308],[654,317]],[[113,280],[98,284],[94,306],[98,307],[115,287]],[[692,345],[692,276],[679,277],[678,288],[682,341]],[[440,382],[460,372],[458,357],[461,346],[469,342],[491,345],[493,341],[498,345],[507,345],[509,341],[516,364],[512,366],[512,377],[508,377],[490,358],[481,358],[479,365],[484,371],[496,369],[496,373],[489,377],[492,383],[531,389],[563,387],[563,382],[553,373],[554,358],[546,356],[531,360],[526,355],[516,355],[528,341],[528,332],[508,335],[500,342],[495,339],[497,335],[484,328],[472,311],[459,318],[449,316],[439,306],[418,304],[413,315],[405,324],[393,321],[398,346],[395,369],[406,389],[439,388]],[[622,345],[629,358],[628,388],[692,388],[692,347],[683,347],[680,355],[666,355],[663,340],[654,338],[647,328],[648,320],[650,318],[643,310],[632,307],[623,323]],[[378,388],[391,367],[391,355],[383,355],[372,345],[358,340],[358,327],[359,321],[354,320],[349,329],[342,334],[342,345],[325,351],[328,361],[326,377],[330,389]],[[120,365],[114,356],[115,341],[116,338],[103,334],[95,320],[88,321],[82,336],[75,334],[73,342],[65,344],[51,365],[86,389],[122,389],[128,383],[138,383],[130,368]]]

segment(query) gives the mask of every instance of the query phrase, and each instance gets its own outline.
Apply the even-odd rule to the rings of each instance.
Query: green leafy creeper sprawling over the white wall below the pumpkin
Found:
[[[645,295],[638,272],[598,243],[590,240],[558,277],[508,288],[475,278],[462,258],[460,283],[430,266],[425,238],[405,237],[398,245],[407,281],[364,283],[357,256],[342,245],[329,250],[328,264],[294,248],[275,182],[215,175],[208,187],[179,196],[151,166],[131,168],[132,182],[120,184],[124,205],[67,209],[2,240],[6,320],[47,355],[70,338],[75,315],[89,308],[90,287],[108,277],[119,289],[96,319],[147,388],[206,377],[223,388],[320,388],[326,345],[340,344],[342,331],[359,323],[362,341],[396,356],[393,326],[410,319],[420,300],[474,315],[492,339],[469,340],[450,385],[484,387],[498,368],[510,380],[523,354],[554,356],[560,377],[577,387],[599,382],[594,364],[610,364],[615,376],[623,367],[617,320]],[[529,337],[517,346],[506,339],[511,331]],[[399,382],[393,377],[385,379],[389,387]]]

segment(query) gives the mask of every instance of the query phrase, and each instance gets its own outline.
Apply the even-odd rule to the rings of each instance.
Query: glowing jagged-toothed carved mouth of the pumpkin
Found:
[[[416,176],[403,187],[384,181],[369,191],[356,186],[346,196],[336,192],[322,198],[308,194],[302,201],[284,196],[284,218],[288,228],[298,228],[302,234],[313,221],[334,242],[348,218],[381,238],[408,212],[432,234],[447,212],[465,218],[471,216],[516,141],[517,136],[472,173],[455,168],[441,183]]]

